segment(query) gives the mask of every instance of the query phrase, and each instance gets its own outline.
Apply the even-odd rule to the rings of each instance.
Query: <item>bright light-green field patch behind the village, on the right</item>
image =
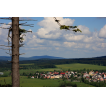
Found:
[[[58,68],[62,68],[65,70],[80,70],[80,69],[93,69],[93,70],[106,70],[106,66],[99,66],[99,65],[91,65],[91,64],[80,64],[80,63],[75,63],[75,64],[61,64],[61,65],[56,65]]]

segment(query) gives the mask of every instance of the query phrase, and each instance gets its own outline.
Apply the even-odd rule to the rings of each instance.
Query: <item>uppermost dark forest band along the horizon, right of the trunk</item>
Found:
[[[45,63],[51,63],[54,65],[59,64],[71,64],[71,63],[83,63],[83,64],[93,64],[93,65],[100,65],[100,66],[106,66],[106,57],[104,58],[79,58],[79,59],[51,59],[51,60],[25,60],[20,61],[20,64],[28,64],[28,63],[34,63],[34,64],[45,64]]]

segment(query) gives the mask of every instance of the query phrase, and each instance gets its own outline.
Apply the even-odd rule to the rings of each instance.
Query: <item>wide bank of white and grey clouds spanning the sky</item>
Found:
[[[60,20],[62,25],[74,24],[74,19],[56,17]],[[82,33],[73,31],[60,30],[59,25],[53,20],[53,17],[44,17],[42,21],[38,23],[41,27],[37,32],[26,33],[24,37],[25,47],[21,50],[43,50],[44,53],[63,53],[65,51],[81,51],[83,53],[89,52],[101,52],[106,50],[106,25],[104,25],[100,31],[91,32],[88,27],[79,25],[78,28],[82,30]],[[3,27],[9,27],[1,25]],[[30,30],[30,29],[29,29]],[[1,43],[7,42],[8,30],[0,29],[0,41]],[[39,52],[40,52],[39,51]],[[70,53],[69,52],[69,53]],[[81,53],[80,52],[80,53]]]

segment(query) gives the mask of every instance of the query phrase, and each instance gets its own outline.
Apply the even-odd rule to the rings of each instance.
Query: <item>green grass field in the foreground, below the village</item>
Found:
[[[28,79],[26,76],[20,76],[20,87],[58,87],[60,83],[63,82],[63,80],[57,79]],[[5,84],[4,79],[6,81],[6,84],[11,83],[11,77],[0,77],[0,84]],[[69,81],[66,81],[69,82]],[[76,83],[77,87],[94,87],[89,84],[80,83],[80,82],[72,82]]]

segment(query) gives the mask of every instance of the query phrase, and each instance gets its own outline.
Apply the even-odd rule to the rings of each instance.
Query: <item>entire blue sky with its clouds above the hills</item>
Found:
[[[25,33],[24,47],[20,47],[20,57],[56,56],[64,58],[88,58],[106,55],[106,17],[56,17],[62,25],[78,26],[81,32],[60,30],[53,17],[20,17],[37,21],[20,21],[34,24],[21,26],[33,33]],[[0,23],[11,23],[2,20]],[[10,27],[0,24],[0,27]],[[0,45],[8,45],[8,29],[0,28]],[[7,49],[0,46],[0,48]],[[0,56],[10,56],[8,50],[0,49]],[[7,52],[7,53],[5,53]]]

